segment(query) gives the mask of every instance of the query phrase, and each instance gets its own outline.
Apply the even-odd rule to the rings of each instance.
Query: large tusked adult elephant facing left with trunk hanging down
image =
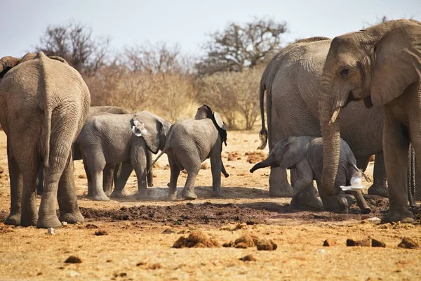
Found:
[[[421,22],[391,20],[335,37],[330,44],[323,68],[319,114],[324,143],[321,184],[331,198],[340,197],[340,190],[335,190],[333,184],[338,169],[342,111],[348,110],[350,100],[361,99],[367,107],[385,108],[382,141],[389,211],[382,221],[412,221],[406,169],[411,142],[418,162],[416,173],[420,175]],[[350,112],[356,114],[354,110]]]

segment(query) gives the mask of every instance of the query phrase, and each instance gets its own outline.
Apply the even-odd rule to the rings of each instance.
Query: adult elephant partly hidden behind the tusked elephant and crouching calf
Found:
[[[288,136],[321,136],[319,84],[330,42],[326,37],[302,39],[278,53],[267,65],[260,81],[260,139],[265,148],[269,133],[269,150]],[[263,109],[267,92],[267,126]],[[349,103],[340,112],[340,132],[354,152],[356,164],[363,171],[370,155],[375,155],[374,183],[369,194],[387,197],[385,164],[382,155],[382,107],[367,109],[362,102]],[[291,178],[294,180],[294,170]],[[292,181],[293,182],[293,181]],[[269,196],[292,196],[286,169],[272,168]]]

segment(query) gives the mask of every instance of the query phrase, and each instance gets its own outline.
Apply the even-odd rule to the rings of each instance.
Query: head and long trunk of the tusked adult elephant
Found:
[[[323,67],[319,117],[323,136],[321,184],[337,195],[334,182],[340,152],[342,107],[364,100],[367,107],[385,105],[420,79],[421,22],[391,20],[366,30],[335,37]]]

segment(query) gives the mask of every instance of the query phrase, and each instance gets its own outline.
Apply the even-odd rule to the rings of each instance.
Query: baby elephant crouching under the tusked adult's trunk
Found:
[[[312,209],[324,209],[326,211],[349,212],[348,202],[341,192],[336,197],[325,195],[321,186],[321,172],[323,169],[323,142],[322,138],[309,136],[298,136],[283,138],[276,143],[264,161],[255,164],[250,173],[263,167],[282,167],[286,169],[296,169],[296,181],[293,183],[294,193],[291,206],[294,208],[310,207]],[[354,153],[348,144],[340,140],[340,159],[338,174],[335,179],[335,187],[340,185],[350,185],[352,178],[361,177],[361,171],[356,167]],[[323,203],[320,204],[316,197],[313,180],[319,188],[319,195]],[[361,212],[368,214],[370,207],[363,198],[361,191],[351,191],[354,195]]]

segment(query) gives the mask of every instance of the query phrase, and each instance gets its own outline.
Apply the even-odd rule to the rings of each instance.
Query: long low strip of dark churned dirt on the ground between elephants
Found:
[[[264,223],[271,214],[262,209],[241,208],[234,204],[178,204],[173,206],[134,206],[117,210],[80,208],[83,217],[95,221],[154,221],[180,225],[225,223]]]

